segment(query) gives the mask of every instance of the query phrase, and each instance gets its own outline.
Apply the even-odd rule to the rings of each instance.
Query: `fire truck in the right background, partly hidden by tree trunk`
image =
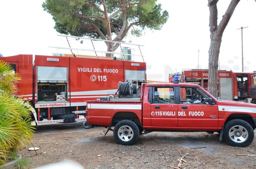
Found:
[[[178,75],[181,82],[196,83],[207,90],[208,69],[189,69],[169,75],[169,81]],[[218,97],[256,103],[256,72],[218,70]]]

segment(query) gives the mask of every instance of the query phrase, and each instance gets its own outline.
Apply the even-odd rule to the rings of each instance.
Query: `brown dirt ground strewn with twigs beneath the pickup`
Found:
[[[104,130],[85,129],[82,121],[39,125],[32,138],[37,154],[28,150],[32,145],[21,153],[31,168],[67,159],[83,168],[256,168],[256,139],[233,147],[219,141],[218,133],[151,132],[125,146],[117,144],[112,131],[104,136]]]

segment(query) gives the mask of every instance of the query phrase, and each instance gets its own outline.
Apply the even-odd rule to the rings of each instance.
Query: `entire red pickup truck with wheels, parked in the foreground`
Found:
[[[124,145],[134,144],[143,131],[218,132],[232,146],[247,146],[254,138],[256,104],[216,99],[193,83],[142,84],[140,93],[88,101],[87,126],[105,126]]]

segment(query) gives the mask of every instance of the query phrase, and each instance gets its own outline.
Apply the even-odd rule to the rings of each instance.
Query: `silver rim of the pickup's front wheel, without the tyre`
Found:
[[[241,125],[235,125],[229,129],[228,135],[232,141],[241,143],[248,138],[248,131]]]

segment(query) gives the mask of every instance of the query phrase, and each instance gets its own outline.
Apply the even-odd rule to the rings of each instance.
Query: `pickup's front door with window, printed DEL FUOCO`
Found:
[[[186,128],[217,128],[218,106],[208,103],[208,96],[201,88],[180,87],[180,104],[178,104],[179,127]]]

